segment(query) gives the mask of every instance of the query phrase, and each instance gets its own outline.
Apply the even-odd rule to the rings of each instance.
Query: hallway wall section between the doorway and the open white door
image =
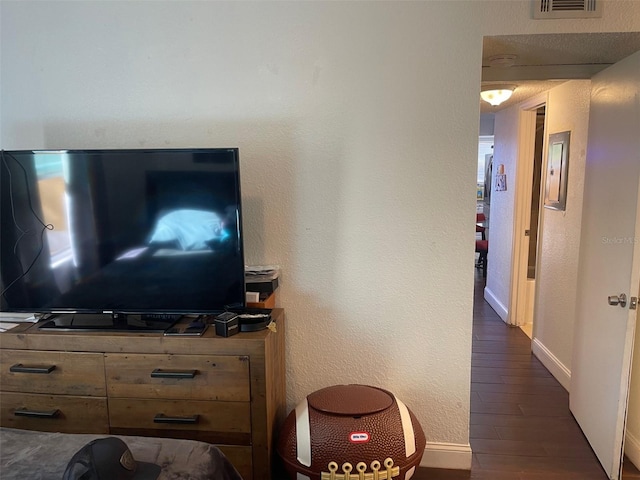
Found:
[[[569,177],[566,210],[541,209],[533,336],[569,370],[573,351],[590,95],[589,80],[567,82],[549,91],[546,109],[547,139],[553,133],[571,132]]]

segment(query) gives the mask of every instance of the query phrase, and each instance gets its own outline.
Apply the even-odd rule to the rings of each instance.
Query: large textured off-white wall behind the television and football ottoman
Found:
[[[382,385],[467,445],[482,36],[640,24],[605,7],[2,2],[1,145],[239,146],[247,262],[283,269],[289,407]]]

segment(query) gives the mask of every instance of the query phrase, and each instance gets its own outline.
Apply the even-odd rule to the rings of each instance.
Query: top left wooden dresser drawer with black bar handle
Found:
[[[3,391],[106,396],[101,353],[0,351]]]

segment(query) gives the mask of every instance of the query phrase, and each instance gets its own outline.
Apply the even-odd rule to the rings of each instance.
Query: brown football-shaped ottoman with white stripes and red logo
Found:
[[[393,393],[335,385],[296,406],[277,450],[293,480],[408,480],[425,444],[418,420]]]

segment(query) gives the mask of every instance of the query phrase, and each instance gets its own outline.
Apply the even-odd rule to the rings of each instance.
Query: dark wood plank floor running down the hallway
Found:
[[[476,276],[471,361],[471,471],[421,468],[413,480],[606,480],[569,411],[569,395],[531,342],[483,298]],[[625,461],[624,480],[640,479]]]

